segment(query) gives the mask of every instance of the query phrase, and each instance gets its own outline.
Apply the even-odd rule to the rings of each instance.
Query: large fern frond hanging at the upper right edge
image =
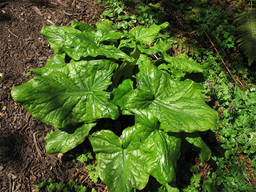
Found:
[[[256,58],[256,17],[255,8],[249,8],[235,17],[234,22],[238,22],[237,30],[239,32],[237,42],[244,55],[248,58],[248,64],[251,65]]]

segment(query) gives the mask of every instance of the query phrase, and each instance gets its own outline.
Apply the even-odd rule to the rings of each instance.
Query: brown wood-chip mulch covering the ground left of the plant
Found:
[[[76,166],[72,159],[45,155],[44,137],[54,128],[35,119],[10,95],[15,85],[33,77],[25,76],[30,68],[44,66],[53,56],[47,39],[40,34],[42,26],[68,26],[72,19],[95,23],[104,7],[93,0],[5,2],[0,1],[0,191],[35,191],[50,177],[56,182],[73,179],[77,185],[106,190],[100,181],[92,186],[85,180],[86,164]]]

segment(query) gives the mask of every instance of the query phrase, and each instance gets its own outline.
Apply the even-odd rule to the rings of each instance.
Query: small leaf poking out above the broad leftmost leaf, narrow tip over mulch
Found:
[[[55,69],[64,67],[66,65],[65,63],[65,56],[66,54],[63,53],[61,55],[55,55],[51,59],[48,59],[46,62],[46,65],[42,68],[32,68],[29,70],[35,72],[37,75],[45,76],[54,71]],[[29,72],[26,74],[26,76],[29,76]]]

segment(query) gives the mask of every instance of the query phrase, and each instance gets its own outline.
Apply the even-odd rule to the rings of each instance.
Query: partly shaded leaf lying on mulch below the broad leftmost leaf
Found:
[[[77,145],[81,144],[89,135],[89,131],[96,123],[77,124],[65,129],[56,128],[55,132],[46,140],[46,153],[58,154],[65,153]]]

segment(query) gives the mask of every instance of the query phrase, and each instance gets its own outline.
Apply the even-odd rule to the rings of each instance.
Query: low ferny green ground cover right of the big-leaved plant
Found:
[[[252,6],[251,3],[254,3],[251,1],[248,2],[250,4],[249,7]],[[170,37],[168,31],[167,33],[164,32],[159,35],[158,42],[154,44],[162,44],[165,48],[169,49],[169,51],[172,50],[173,47],[173,54],[176,54],[176,52],[190,53],[191,58],[189,59],[191,61],[197,61],[205,65],[204,79],[200,80],[199,78],[193,80],[202,82],[202,85],[204,85],[203,92],[206,94],[206,101],[215,101],[215,104],[212,106],[219,111],[220,119],[217,123],[218,131],[216,132],[216,136],[220,147],[211,147],[212,158],[208,162],[211,168],[208,171],[206,168],[202,167],[195,168],[195,166],[193,166],[194,162],[187,161],[186,156],[181,155],[178,167],[182,167],[182,170],[179,170],[177,178],[180,190],[253,191],[255,189],[254,144],[250,145],[251,143],[255,143],[254,135],[256,132],[254,107],[255,68],[253,66],[247,67],[246,57],[237,49],[238,44],[236,44],[235,37],[238,36],[238,33],[233,23],[233,16],[237,15],[239,11],[241,12],[243,9],[247,9],[245,4],[248,2],[234,1],[232,4],[227,2],[220,2],[218,4],[209,1],[190,1],[189,3],[186,1],[155,1],[152,4],[152,2],[141,1],[139,3],[140,6],[136,6],[138,9],[146,11],[147,14],[156,16],[153,19],[149,19],[149,22],[154,23],[159,22],[159,17],[156,13],[162,11],[162,15],[164,15],[165,12],[168,12],[166,9],[163,11],[156,7],[168,7],[166,4],[171,4],[172,6],[170,7],[172,9],[181,12],[181,15],[178,15],[179,18],[187,19],[186,22],[183,23],[185,28],[180,22],[180,32],[183,32],[180,34],[184,35],[186,33],[184,31],[187,31],[186,28],[191,28],[191,31],[187,31],[191,33],[187,34],[195,34],[195,37],[191,35],[192,38],[190,37],[190,39],[192,39],[193,42],[195,38],[196,40],[194,40],[194,42],[200,42],[200,46],[202,46],[205,44],[205,41],[208,41],[208,37],[202,31],[202,28],[204,28],[211,40],[216,43],[215,46],[217,49],[221,50],[220,52],[222,54],[216,55],[213,51],[209,51],[209,49],[211,50],[209,47],[206,47],[207,50],[197,47],[197,44],[185,44],[184,41],[188,39],[187,37],[175,39]],[[107,6],[111,7],[110,4]],[[134,2],[134,4],[136,4],[136,2]],[[164,6],[161,6],[161,4]],[[113,7],[114,6],[115,5],[113,5]],[[154,13],[147,12],[149,9]],[[125,10],[125,12],[127,13],[127,10]],[[140,10],[134,13],[137,13],[136,19],[138,20],[140,17],[143,17]],[[120,14],[123,13],[120,12]],[[127,15],[133,15],[133,13],[128,13]],[[194,16],[194,18],[190,18],[189,16]],[[253,18],[251,15],[248,18],[251,17]],[[105,18],[108,17],[106,16]],[[179,19],[178,17],[176,18]],[[111,19],[114,18],[112,17]],[[189,25],[190,22],[188,19],[197,20],[198,23],[193,23],[193,26],[191,26]],[[215,20],[215,22],[212,25],[211,22],[213,20]],[[127,23],[128,22],[130,22],[129,16],[127,16]],[[205,22],[209,22],[207,23],[208,25],[204,25]],[[143,24],[147,25],[147,23]],[[116,24],[116,26],[118,25],[119,23]],[[214,27],[216,27],[216,30],[210,30]],[[198,29],[194,29],[196,33],[194,33],[192,28]],[[252,33],[255,33],[255,30]],[[243,35],[243,33],[241,33],[241,35]],[[200,39],[196,37],[200,37]],[[160,42],[161,40],[162,42]],[[253,41],[255,40],[251,42]],[[232,47],[234,47],[234,49],[228,49]],[[235,53],[234,50],[236,50]],[[253,52],[250,51],[249,53],[253,54]],[[229,71],[225,71],[221,57],[230,60],[231,66],[229,66],[229,70],[231,74]],[[255,62],[255,59],[252,60]],[[231,77],[232,74],[236,77],[236,80],[240,78],[239,82]],[[176,78],[179,77],[176,76]],[[242,87],[240,87],[241,85]],[[206,138],[210,141],[209,143],[214,143],[216,136],[207,136]],[[244,145],[244,143],[247,144]],[[184,153],[187,153],[187,151]],[[187,169],[184,168],[184,165],[187,166]],[[184,172],[184,170],[188,169],[190,173]],[[202,173],[202,170],[206,173]],[[186,176],[191,173],[193,174],[191,178]],[[187,185],[185,185],[186,181],[188,181]]]

